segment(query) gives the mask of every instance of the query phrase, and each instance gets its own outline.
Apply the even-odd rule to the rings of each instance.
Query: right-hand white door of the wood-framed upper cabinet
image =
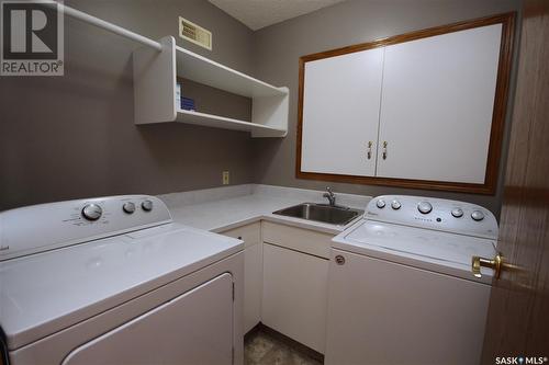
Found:
[[[484,183],[501,36],[496,24],[385,48],[378,176]]]

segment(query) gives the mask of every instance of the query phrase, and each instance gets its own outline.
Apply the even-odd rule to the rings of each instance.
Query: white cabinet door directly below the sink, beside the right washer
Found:
[[[264,243],[261,321],[324,353],[329,261]]]

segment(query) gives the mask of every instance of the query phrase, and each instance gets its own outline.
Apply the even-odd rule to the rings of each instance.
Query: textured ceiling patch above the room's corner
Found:
[[[253,31],[345,0],[208,0]]]

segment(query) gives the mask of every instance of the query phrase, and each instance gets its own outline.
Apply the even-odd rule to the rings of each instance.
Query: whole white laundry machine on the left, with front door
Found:
[[[240,364],[243,242],[146,195],[0,213],[11,364]]]

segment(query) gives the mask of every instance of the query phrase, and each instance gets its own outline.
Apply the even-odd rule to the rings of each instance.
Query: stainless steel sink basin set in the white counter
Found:
[[[306,220],[322,221],[330,225],[345,226],[363,213],[365,212],[360,209],[352,209],[341,206],[302,203],[289,208],[273,212],[272,214]]]

